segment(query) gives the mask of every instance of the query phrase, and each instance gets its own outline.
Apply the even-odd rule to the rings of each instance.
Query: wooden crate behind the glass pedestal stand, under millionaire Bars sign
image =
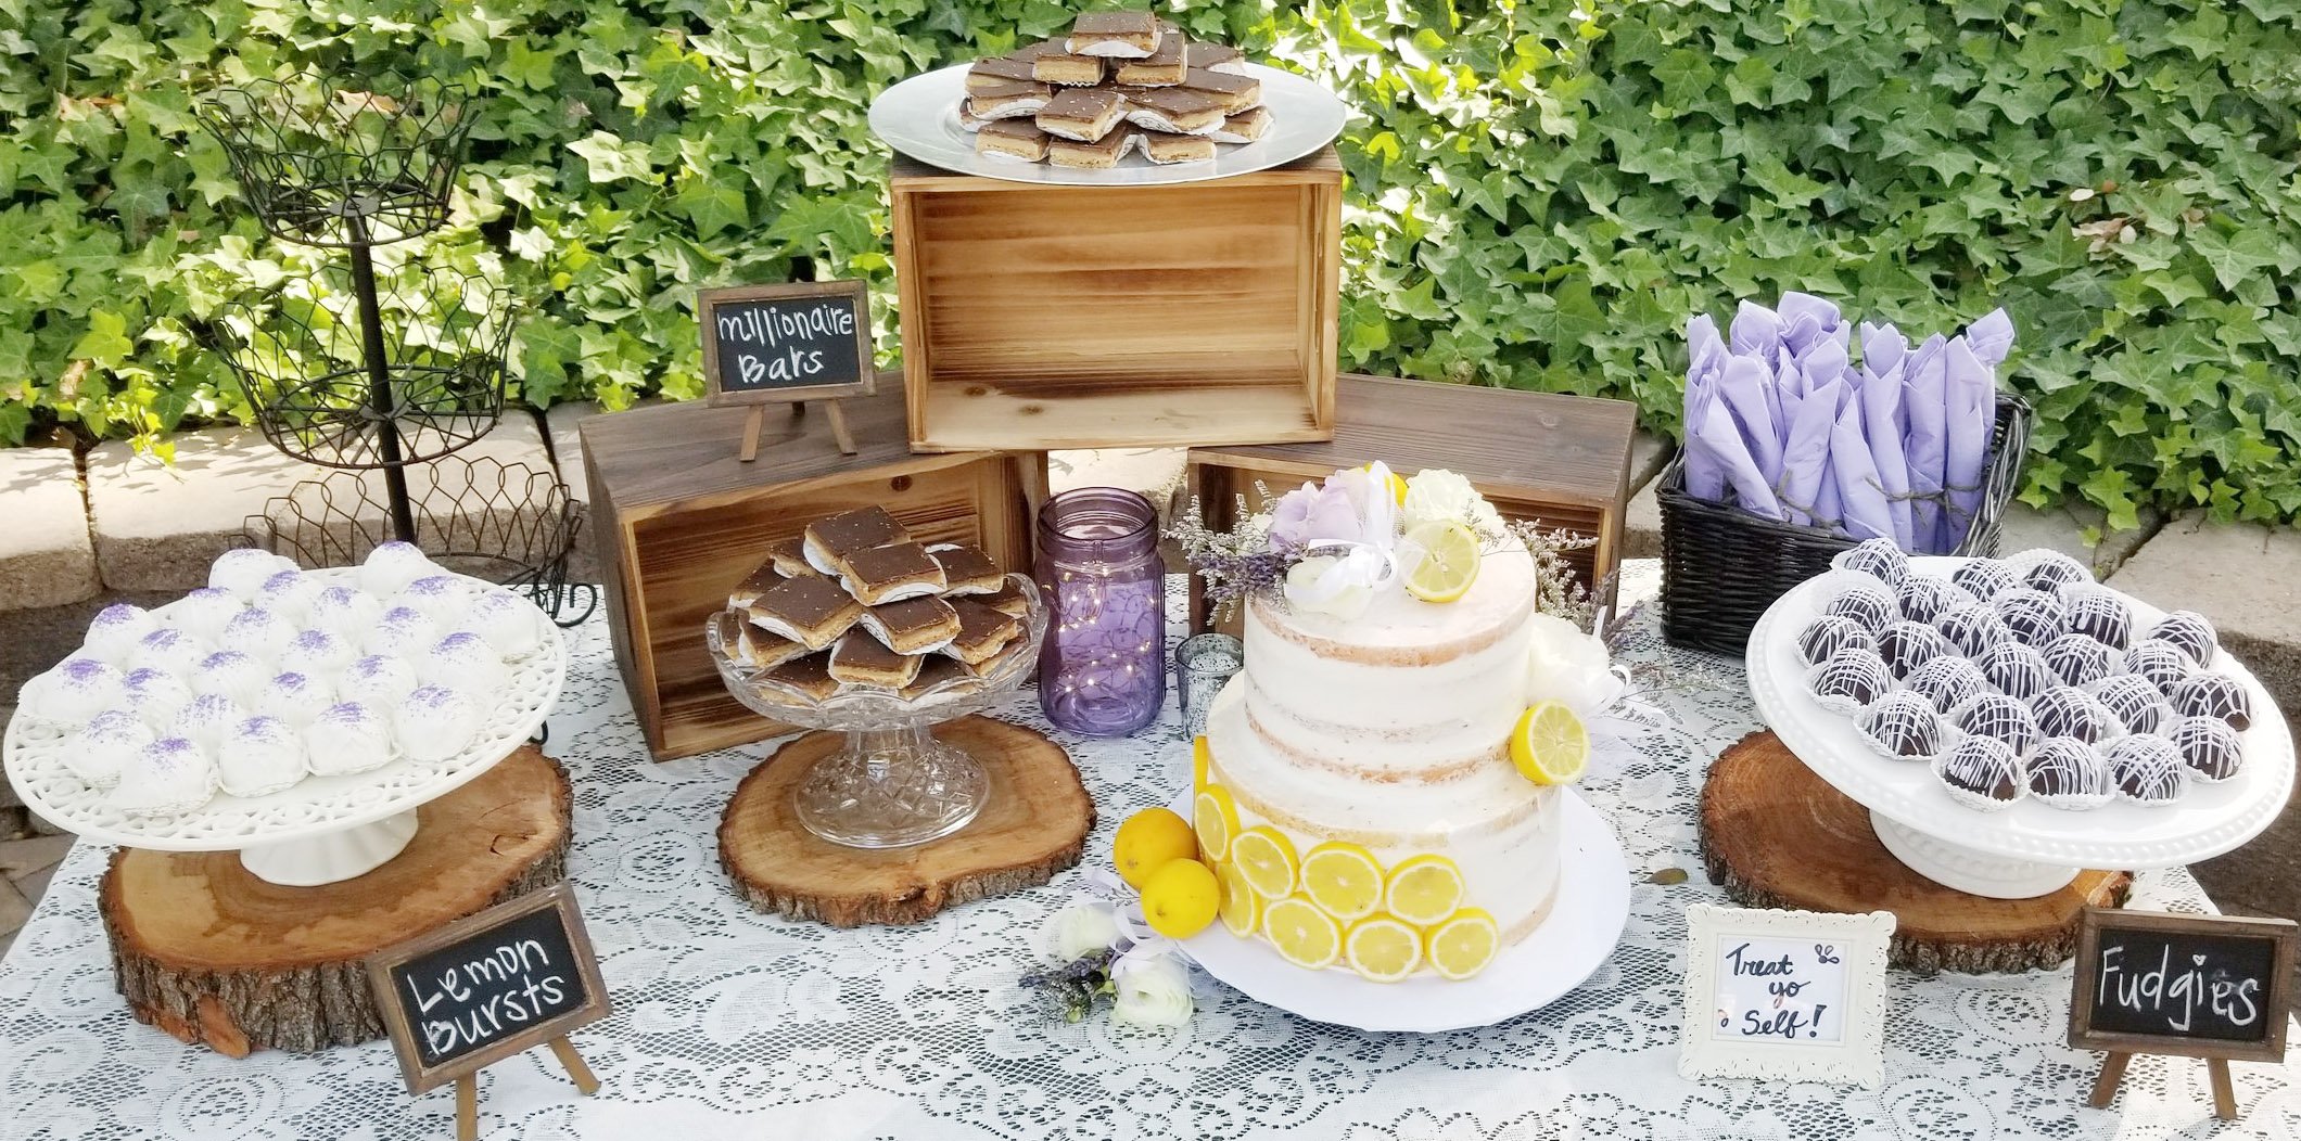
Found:
[[[821,409],[769,412],[759,458],[739,462],[746,407],[660,405],[582,423],[591,524],[614,660],[658,761],[787,732],[727,695],[704,623],[769,543],[858,506],[886,506],[932,543],[980,543],[1031,568],[1045,453],[913,455],[902,380],[847,400],[858,453],[840,455]]]

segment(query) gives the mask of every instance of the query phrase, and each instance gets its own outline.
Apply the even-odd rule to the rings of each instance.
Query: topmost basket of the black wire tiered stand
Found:
[[[472,110],[460,85],[435,78],[352,87],[324,76],[221,87],[198,106],[265,230],[306,246],[437,230]]]

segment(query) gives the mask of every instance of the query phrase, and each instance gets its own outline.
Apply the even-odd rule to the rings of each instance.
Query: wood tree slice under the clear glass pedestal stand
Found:
[[[1054,879],[1079,863],[1095,803],[1063,745],[992,718],[960,718],[934,738],[989,775],[989,803],[966,828],[909,849],[849,849],[798,824],[792,789],[844,734],[805,734],[752,768],[720,819],[720,863],[759,911],[833,927],[920,922],[946,906]]]

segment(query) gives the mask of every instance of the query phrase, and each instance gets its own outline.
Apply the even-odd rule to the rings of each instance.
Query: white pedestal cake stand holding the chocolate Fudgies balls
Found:
[[[1917,557],[1917,570],[1947,575],[1965,559]],[[1822,709],[1804,686],[1797,635],[1827,605],[1822,577],[1783,594],[1749,635],[1749,690],[1781,743],[1815,775],[1871,810],[1878,842],[1912,872],[1970,895],[2027,899],[2052,893],[2082,867],[2177,867],[2237,849],[2276,821],[2294,787],[2294,743],[2262,683],[2227,651],[2214,669],[2253,695],[2253,727],[2241,736],[2246,764],[2220,784],[2191,782],[2163,807],[2115,801],[2066,812],[2034,798],[1977,812],[1949,798],[1926,764],[1889,761],[1864,745],[1850,718]],[[2133,626],[2163,610],[2122,596]]]

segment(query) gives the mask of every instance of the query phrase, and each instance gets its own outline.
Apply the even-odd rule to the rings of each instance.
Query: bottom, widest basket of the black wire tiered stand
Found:
[[[559,626],[591,617],[598,587],[568,582],[582,518],[557,474],[492,455],[451,455],[419,474],[414,543],[433,561],[527,594]],[[304,568],[357,566],[393,538],[382,474],[347,469],[297,483],[242,529],[249,545]]]

